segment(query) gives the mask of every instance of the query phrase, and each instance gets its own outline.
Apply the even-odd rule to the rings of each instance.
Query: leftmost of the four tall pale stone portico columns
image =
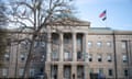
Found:
[[[52,40],[52,33],[47,32],[47,54],[46,54],[46,61],[51,61],[51,52],[52,52],[51,40]]]

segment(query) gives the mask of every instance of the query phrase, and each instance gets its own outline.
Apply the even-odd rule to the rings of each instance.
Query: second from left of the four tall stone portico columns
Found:
[[[63,33],[59,33],[59,61],[63,61],[64,58],[64,43],[63,43]]]

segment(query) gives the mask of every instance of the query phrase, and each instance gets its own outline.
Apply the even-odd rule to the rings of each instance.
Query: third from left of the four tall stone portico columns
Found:
[[[73,33],[73,60],[76,61],[77,60],[77,50],[76,50],[76,33]]]

